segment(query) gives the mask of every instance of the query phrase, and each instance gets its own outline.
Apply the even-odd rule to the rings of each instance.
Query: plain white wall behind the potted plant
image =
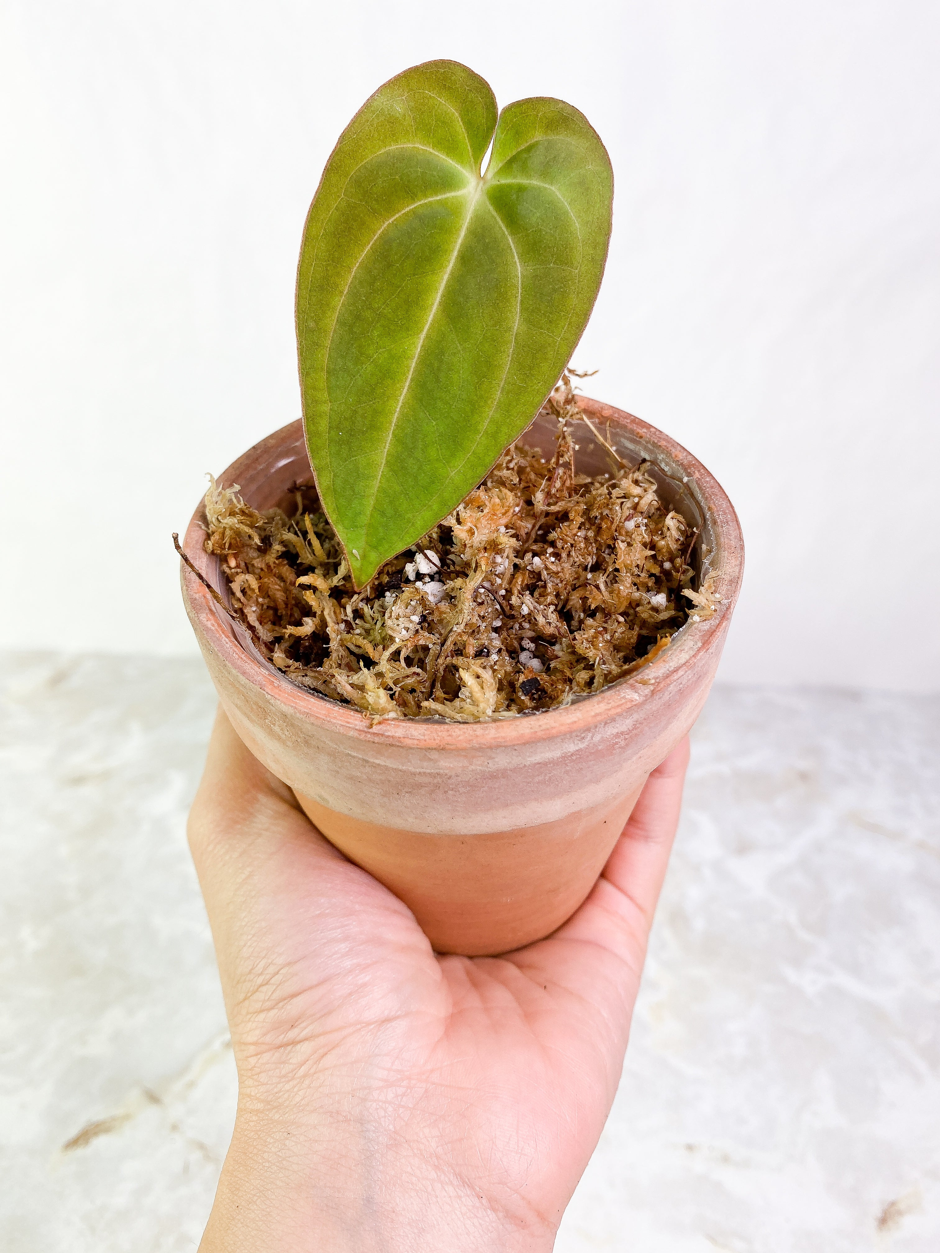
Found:
[[[574,362],[737,505],[723,679],[940,687],[939,54],[927,0],[6,0],[0,644],[194,649],[169,533],[300,412],[322,165],[450,56],[610,150]]]

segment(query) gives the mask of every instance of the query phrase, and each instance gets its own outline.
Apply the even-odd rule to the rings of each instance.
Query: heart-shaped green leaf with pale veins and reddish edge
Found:
[[[399,74],[340,137],[303,232],[297,346],[310,460],[357,586],[544,403],[600,286],[612,199],[583,114],[531,99],[498,120],[456,61]]]

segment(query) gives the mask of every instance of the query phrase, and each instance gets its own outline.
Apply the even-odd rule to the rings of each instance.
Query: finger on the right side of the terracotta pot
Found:
[[[558,932],[619,954],[637,977],[676,838],[688,758],[686,737],[647,779],[590,896]]]

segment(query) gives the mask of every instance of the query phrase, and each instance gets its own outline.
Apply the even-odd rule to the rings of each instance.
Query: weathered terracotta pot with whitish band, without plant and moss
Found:
[[[183,598],[219,699],[238,734],[297,794],[320,831],[414,911],[434,947],[505,952],[538,940],[597,881],[647,776],[696,720],[741,585],[743,544],[731,501],[683,447],[639,419],[582,400],[615,446],[653,464],[661,492],[699,528],[698,559],[721,596],[634,675],[564,709],[493,723],[440,718],[370,727],[358,710],[290,683],[183,568]],[[554,422],[526,440],[553,449]],[[609,469],[587,425],[578,469]],[[256,509],[310,480],[300,421],[222,475]],[[228,596],[203,550],[197,509],[185,553]]]

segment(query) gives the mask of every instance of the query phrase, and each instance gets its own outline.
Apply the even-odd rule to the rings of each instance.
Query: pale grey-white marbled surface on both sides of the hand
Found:
[[[6,657],[0,1247],[197,1247],[236,1079],[188,660]],[[940,1248],[940,702],[717,689],[558,1253]]]

